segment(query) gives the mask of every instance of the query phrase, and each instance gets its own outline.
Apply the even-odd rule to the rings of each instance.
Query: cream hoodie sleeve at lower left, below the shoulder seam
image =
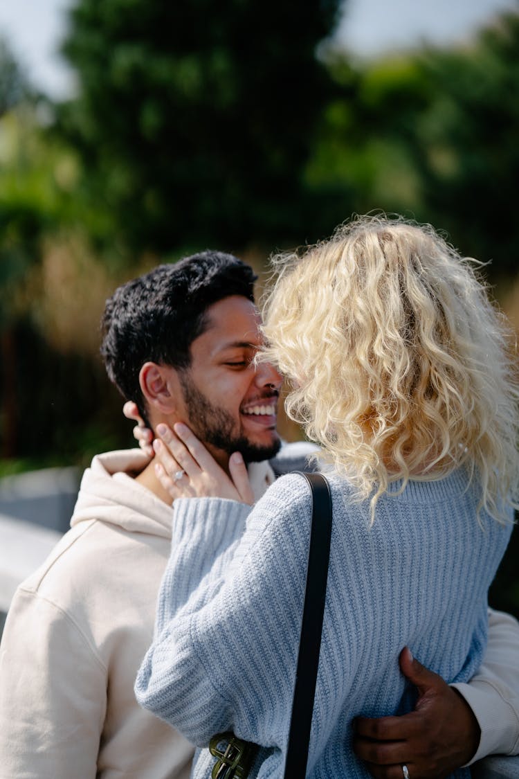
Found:
[[[0,650],[2,779],[94,779],[106,687],[70,617],[20,587]]]

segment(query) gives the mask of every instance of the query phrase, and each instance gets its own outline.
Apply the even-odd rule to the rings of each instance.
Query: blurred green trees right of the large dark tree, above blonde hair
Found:
[[[362,65],[331,50],[327,64],[335,96],[307,165],[310,185],[334,185],[361,213],[430,221],[464,253],[492,260],[494,278],[516,273],[519,11],[461,47]]]

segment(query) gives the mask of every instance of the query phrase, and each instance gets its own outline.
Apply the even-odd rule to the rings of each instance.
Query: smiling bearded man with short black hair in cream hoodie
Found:
[[[107,301],[101,351],[110,379],[152,428],[188,423],[224,470],[239,451],[258,497],[283,467],[304,465],[311,447],[283,446],[272,460],[281,378],[253,364],[254,280],[221,252],[160,266]],[[193,747],[133,693],[170,554],[170,502],[135,449],[96,456],[85,472],[71,530],[9,610],[2,779],[189,776]]]

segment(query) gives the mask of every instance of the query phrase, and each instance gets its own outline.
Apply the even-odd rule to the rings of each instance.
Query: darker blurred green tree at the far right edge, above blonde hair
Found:
[[[409,137],[424,206],[492,275],[517,273],[519,11],[422,67],[433,98]]]

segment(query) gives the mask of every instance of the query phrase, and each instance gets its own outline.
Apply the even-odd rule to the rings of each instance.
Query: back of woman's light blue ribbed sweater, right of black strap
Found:
[[[369,507],[331,480],[334,529],[310,776],[367,776],[352,755],[352,717],[411,710],[398,655],[412,653],[447,682],[466,682],[486,647],[486,597],[510,537],[476,516],[463,472],[410,481]],[[334,728],[330,731],[330,723]],[[334,767],[335,766],[335,767]],[[340,769],[339,769],[340,766]]]

